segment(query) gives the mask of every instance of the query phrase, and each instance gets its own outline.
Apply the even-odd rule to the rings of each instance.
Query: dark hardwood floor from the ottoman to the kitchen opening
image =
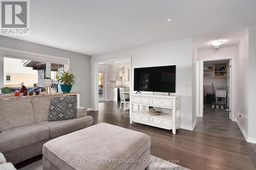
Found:
[[[255,169],[245,140],[180,129],[172,131],[129,123],[129,111],[119,110],[117,102],[99,103],[99,111],[89,111],[94,124],[101,122],[143,132],[151,136],[151,155],[179,160],[190,169]]]

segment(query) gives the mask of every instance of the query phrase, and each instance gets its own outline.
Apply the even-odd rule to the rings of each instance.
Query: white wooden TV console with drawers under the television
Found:
[[[143,108],[141,110],[141,108]],[[148,106],[172,109],[168,114],[150,115]],[[146,108],[146,109],[145,109]],[[180,96],[163,94],[130,94],[130,124],[133,122],[173,130],[180,129]]]

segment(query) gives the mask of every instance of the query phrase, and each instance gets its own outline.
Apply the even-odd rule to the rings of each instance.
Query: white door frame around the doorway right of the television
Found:
[[[198,117],[202,117],[203,116],[203,107],[204,107],[204,88],[203,88],[203,67],[204,67],[204,61],[216,61],[216,60],[229,60],[231,63],[231,68],[229,68],[230,70],[230,75],[229,75],[229,82],[230,82],[230,89],[229,89],[229,93],[230,93],[230,114],[231,114],[231,120],[234,122],[237,122],[237,117],[235,114],[235,89],[236,89],[236,62],[235,62],[235,57],[229,57],[229,58],[207,58],[207,59],[202,59],[200,60],[200,66],[199,66],[199,78],[200,78],[200,82],[199,82],[199,113],[197,114]]]

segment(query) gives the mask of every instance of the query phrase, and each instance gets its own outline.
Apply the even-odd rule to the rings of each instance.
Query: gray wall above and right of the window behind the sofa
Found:
[[[15,50],[39,53],[70,59],[70,71],[75,75],[76,84],[72,91],[81,92],[80,106],[91,107],[91,57],[74,53],[59,48],[40,45],[28,41],[0,36],[0,47],[12,48]],[[1,61],[1,60],[0,60]],[[0,65],[1,66],[1,65]],[[2,74],[1,74],[2,76]],[[0,78],[2,78],[0,76]]]

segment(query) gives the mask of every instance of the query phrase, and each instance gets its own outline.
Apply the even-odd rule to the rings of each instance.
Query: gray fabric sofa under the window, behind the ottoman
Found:
[[[77,118],[48,122],[50,98],[59,95],[0,98],[0,152],[16,164],[42,153],[45,142],[89,127],[92,116],[77,108]]]

